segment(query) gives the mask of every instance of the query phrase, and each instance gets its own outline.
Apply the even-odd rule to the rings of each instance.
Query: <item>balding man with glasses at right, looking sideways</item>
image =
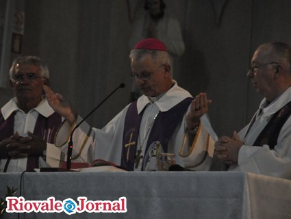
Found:
[[[249,125],[216,142],[215,163],[227,164],[228,170],[291,179],[291,47],[262,44],[247,75],[264,99]]]

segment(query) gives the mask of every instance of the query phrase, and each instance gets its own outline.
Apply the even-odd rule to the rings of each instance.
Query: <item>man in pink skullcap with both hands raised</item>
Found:
[[[167,48],[160,40],[141,40],[131,50],[129,59],[130,75],[144,95],[129,103],[103,129],[86,124],[76,129],[75,161],[105,159],[127,170],[156,170],[155,158],[172,153],[179,166],[207,170],[214,144],[207,150],[192,145],[199,141],[194,140],[197,129],[203,130],[204,122],[200,120],[207,122],[203,116],[210,103],[206,94],[193,99],[177,85],[172,79]],[[75,118],[70,108],[62,106],[58,95],[47,86],[45,92],[53,109],[66,118],[55,142],[57,146],[66,145],[66,137],[81,118]]]

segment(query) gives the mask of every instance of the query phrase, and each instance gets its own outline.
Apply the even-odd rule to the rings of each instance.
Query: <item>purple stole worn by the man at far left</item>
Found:
[[[15,112],[13,112],[7,120],[4,120],[0,112],[0,141],[14,134],[14,116]],[[55,133],[61,123],[62,117],[55,112],[48,118],[38,114],[36,125],[34,127],[34,134],[46,142],[53,144]],[[34,171],[34,168],[38,168],[38,157],[27,157],[26,170]]]

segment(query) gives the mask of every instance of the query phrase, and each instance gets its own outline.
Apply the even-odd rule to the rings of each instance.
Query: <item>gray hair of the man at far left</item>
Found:
[[[49,79],[49,68],[47,68],[47,65],[43,63],[39,57],[31,55],[16,57],[16,59],[12,62],[12,66],[9,70],[10,79],[12,79],[15,73],[15,67],[17,64],[31,64],[34,66],[38,66],[38,68],[40,68],[40,77],[45,77]]]

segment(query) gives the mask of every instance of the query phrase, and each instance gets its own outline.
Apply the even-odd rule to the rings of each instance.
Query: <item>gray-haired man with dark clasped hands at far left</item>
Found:
[[[43,95],[49,70],[39,57],[17,57],[9,74],[15,97],[1,108],[0,171],[33,171],[47,166],[45,152],[47,146],[55,148],[51,144],[62,117]]]

